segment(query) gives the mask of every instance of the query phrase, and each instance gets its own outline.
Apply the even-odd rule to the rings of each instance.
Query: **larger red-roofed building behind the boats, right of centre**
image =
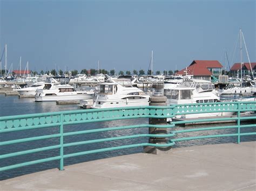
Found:
[[[218,78],[223,66],[218,60],[193,60],[190,66],[181,69],[177,75],[193,75],[194,79],[211,81],[211,76]]]

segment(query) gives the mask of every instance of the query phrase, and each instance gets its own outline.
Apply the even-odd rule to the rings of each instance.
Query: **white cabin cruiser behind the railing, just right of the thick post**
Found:
[[[212,83],[206,80],[185,80],[176,88],[164,89],[164,95],[167,97],[167,104],[170,105],[220,102],[219,97],[215,94]],[[230,116],[232,114],[233,112],[212,112],[182,115],[182,112],[178,111],[176,118]]]

